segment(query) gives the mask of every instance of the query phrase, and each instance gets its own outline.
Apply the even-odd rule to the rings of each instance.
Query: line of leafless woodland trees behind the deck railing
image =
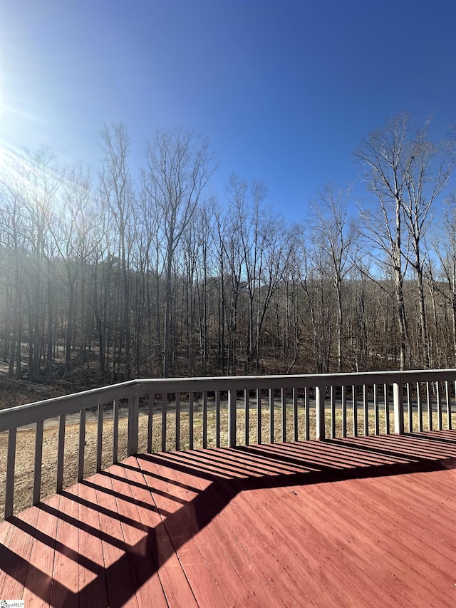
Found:
[[[96,177],[24,153],[0,183],[1,361],[79,386],[454,367],[455,147],[428,128],[368,135],[366,201],[326,185],[295,225],[261,182],[210,190],[209,143],[183,128],[157,130],[137,179],[121,124]]]

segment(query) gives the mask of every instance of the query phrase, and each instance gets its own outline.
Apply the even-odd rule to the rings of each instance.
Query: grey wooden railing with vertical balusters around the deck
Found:
[[[359,420],[362,433],[404,433],[432,431],[435,418],[437,430],[452,428],[455,408],[456,369],[431,371],[389,371],[370,373],[336,373],[299,376],[237,376],[228,378],[165,378],[137,380],[96,388],[73,395],[56,397],[37,403],[28,403],[0,411],[0,433],[7,432],[5,507],[4,516],[13,514],[16,438],[18,428],[36,425],[33,465],[33,504],[41,500],[41,473],[43,460],[44,422],[58,418],[58,445],[56,460],[56,491],[63,489],[66,419],[78,413],[78,480],[84,476],[86,445],[86,413],[95,409],[97,423],[96,470],[101,470],[103,448],[103,415],[105,405],[113,409],[112,461],[118,460],[118,428],[120,402],[128,401],[127,453],[138,453],[140,400],[146,403],[147,452],[152,451],[152,422],[161,416],[161,449],[167,448],[170,431],[168,413],[172,398],[173,436],[176,450],[181,449],[181,413],[188,419],[186,445],[194,447],[195,396],[200,396],[198,416],[202,424],[202,448],[207,448],[207,419],[209,401],[215,417],[215,445],[221,445],[222,431],[227,445],[249,445],[274,442],[277,413],[280,413],[281,441],[326,436],[358,436]],[[161,398],[161,403],[157,403]],[[144,408],[141,408],[141,411]],[[222,417],[222,411],[227,416]],[[252,432],[252,413],[254,433]],[[276,415],[274,415],[276,413]],[[288,418],[287,418],[288,414]],[[291,426],[287,419],[292,416]],[[269,418],[268,432],[264,433],[264,418]],[[226,428],[222,428],[222,418]],[[392,418],[392,421],[390,420]],[[243,437],[237,425],[242,421]],[[312,424],[311,424],[312,421]],[[314,433],[311,430],[314,429]],[[290,432],[289,432],[290,431]],[[312,435],[312,436],[311,436]]]

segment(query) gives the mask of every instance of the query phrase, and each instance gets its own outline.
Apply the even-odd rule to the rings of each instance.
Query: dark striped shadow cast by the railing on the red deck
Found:
[[[105,568],[19,515],[2,524],[12,527],[12,537],[19,531],[24,539],[28,537],[62,553],[93,577],[78,593],[74,592],[63,582],[53,580],[36,563],[16,554],[7,546],[11,544],[8,542],[0,547],[0,567],[27,592],[56,608],[93,605],[93,598],[109,589],[110,579],[128,573],[125,580],[130,583],[118,584],[115,595],[106,599],[111,607],[121,607],[239,493],[456,468],[455,439],[451,431],[443,433],[441,440],[437,433],[428,436],[413,433],[130,457],[85,480],[79,493],[63,492],[58,506],[47,501],[32,507],[53,517],[57,525],[64,523],[76,528],[78,534],[83,532],[115,547],[121,554],[118,560]],[[133,498],[132,488],[150,493],[150,502]],[[82,490],[91,491],[93,499],[86,498]],[[182,498],[185,493],[190,497],[188,500]],[[111,506],[100,504],[105,499],[111,501],[108,503]],[[174,505],[174,510],[160,506],[163,501]],[[66,510],[70,503],[77,505],[77,517]],[[141,510],[154,525],[147,525],[144,517],[138,520],[128,515],[132,509],[138,513]],[[129,545],[125,537],[100,529],[93,524],[93,513],[97,518],[112,518],[118,525],[132,527],[140,540]],[[88,517],[90,514],[92,517]],[[145,555],[148,559],[144,559]],[[3,590],[0,579],[0,595]]]

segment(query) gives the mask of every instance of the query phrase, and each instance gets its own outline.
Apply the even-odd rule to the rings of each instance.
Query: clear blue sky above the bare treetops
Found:
[[[207,136],[220,166],[262,180],[301,220],[385,120],[456,123],[454,0],[1,0],[0,140],[98,168],[103,123],[128,126],[133,172],[160,126]],[[455,180],[453,178],[453,183]]]

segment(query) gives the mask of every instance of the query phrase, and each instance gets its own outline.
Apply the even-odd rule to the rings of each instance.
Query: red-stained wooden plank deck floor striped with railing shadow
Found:
[[[26,608],[454,608],[456,431],[132,456],[0,542]]]

